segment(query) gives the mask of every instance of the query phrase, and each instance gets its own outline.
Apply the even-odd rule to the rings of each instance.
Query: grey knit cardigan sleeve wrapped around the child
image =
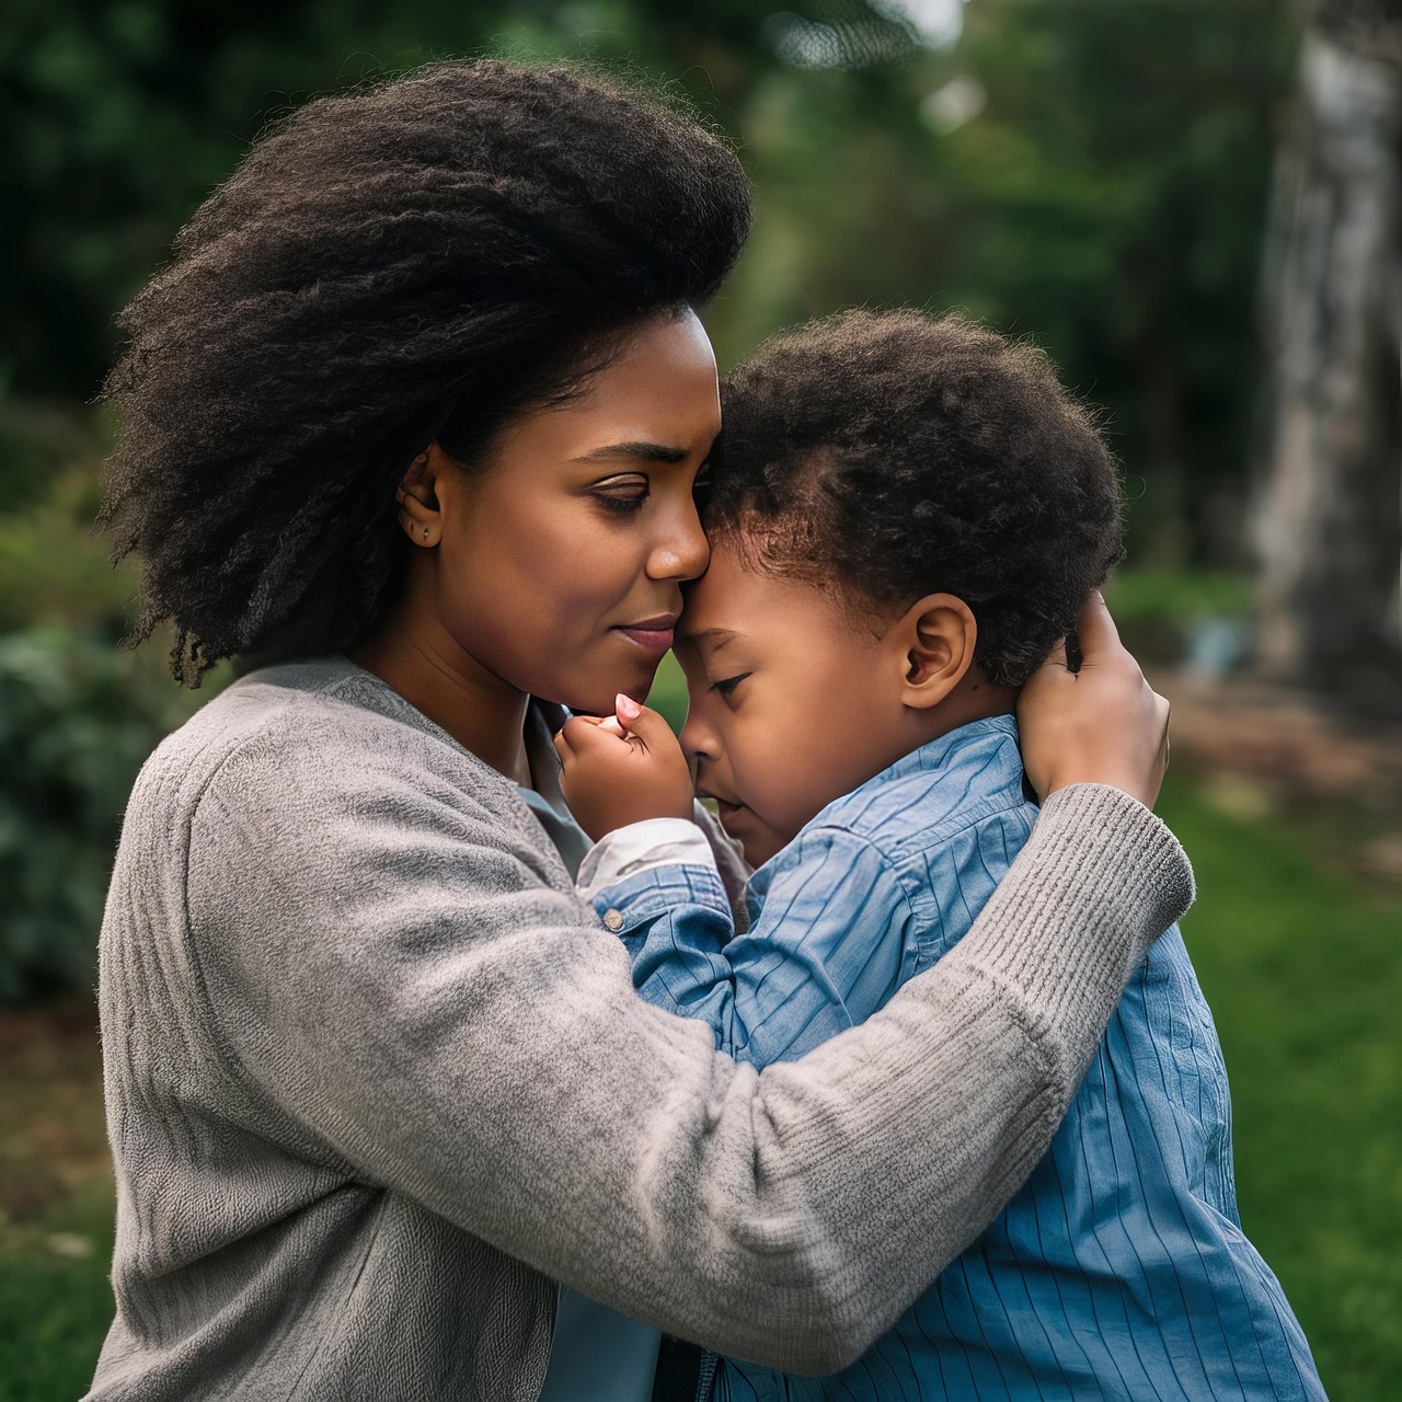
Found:
[[[1145,808],[1066,789],[958,949],[757,1073],[635,995],[520,824],[335,744],[233,751],[189,819],[188,938],[234,1073],[359,1179],[789,1371],[854,1359],[1012,1196],[1192,893]]]

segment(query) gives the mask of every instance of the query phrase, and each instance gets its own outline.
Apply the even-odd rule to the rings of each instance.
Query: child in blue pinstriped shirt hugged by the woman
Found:
[[[1119,492],[1044,356],[956,318],[815,322],[735,376],[725,415],[677,656],[697,792],[758,868],[747,932],[700,830],[667,816],[690,794],[656,716],[621,697],[559,746],[575,816],[611,833],[580,880],[638,990],[764,1066],[882,1007],[1007,872],[1036,819],[1016,691],[1116,559]],[[620,827],[639,792],[658,817]],[[889,1333],[830,1378],[726,1359],[715,1382],[722,1399],[1322,1398],[1238,1225],[1225,1070],[1176,928],[1047,1157]]]

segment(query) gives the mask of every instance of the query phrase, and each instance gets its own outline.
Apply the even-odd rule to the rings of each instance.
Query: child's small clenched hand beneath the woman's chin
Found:
[[[691,771],[667,722],[625,695],[615,705],[617,715],[575,716],[555,736],[565,802],[596,843],[649,817],[691,817]]]

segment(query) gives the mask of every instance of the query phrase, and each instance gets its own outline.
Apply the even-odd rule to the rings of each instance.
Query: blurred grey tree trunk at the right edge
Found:
[[[1325,4],[1298,107],[1266,273],[1260,663],[1335,687],[1402,672],[1402,0]]]

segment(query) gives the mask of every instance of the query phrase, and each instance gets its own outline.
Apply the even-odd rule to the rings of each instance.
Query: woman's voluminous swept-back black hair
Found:
[[[580,69],[433,64],[272,126],[119,318],[100,524],[172,672],[345,648],[402,561],[394,486],[467,467],[733,265],[750,192],[670,101]]]

